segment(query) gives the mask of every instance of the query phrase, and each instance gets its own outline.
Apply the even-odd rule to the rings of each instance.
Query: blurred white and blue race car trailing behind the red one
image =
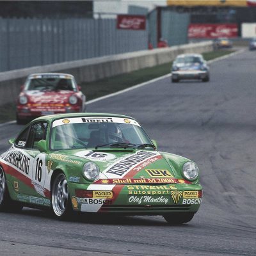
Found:
[[[204,82],[210,79],[209,67],[201,54],[178,55],[171,72],[173,83],[181,79],[202,79]]]

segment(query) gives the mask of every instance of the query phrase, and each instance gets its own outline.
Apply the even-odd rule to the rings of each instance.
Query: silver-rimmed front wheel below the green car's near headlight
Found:
[[[68,220],[72,213],[72,205],[68,193],[67,179],[63,173],[58,173],[52,182],[51,207],[54,218]]]

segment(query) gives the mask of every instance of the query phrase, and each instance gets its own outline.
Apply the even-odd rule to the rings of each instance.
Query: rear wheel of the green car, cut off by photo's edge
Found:
[[[4,170],[0,166],[0,212],[20,212],[23,205],[12,200],[7,188]]]

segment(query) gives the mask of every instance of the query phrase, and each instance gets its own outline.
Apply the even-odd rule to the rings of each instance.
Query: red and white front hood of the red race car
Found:
[[[58,90],[58,91],[26,91],[24,94],[29,98],[29,103],[41,104],[64,104],[68,102],[68,98],[74,94],[72,91]]]

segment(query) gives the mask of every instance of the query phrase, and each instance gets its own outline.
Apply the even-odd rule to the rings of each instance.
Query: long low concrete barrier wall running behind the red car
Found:
[[[63,72],[72,74],[79,84],[168,63],[173,61],[178,54],[202,53],[212,51],[212,49],[212,42],[200,42],[0,72],[0,105],[14,102],[17,99],[20,86],[24,84],[29,74]]]

